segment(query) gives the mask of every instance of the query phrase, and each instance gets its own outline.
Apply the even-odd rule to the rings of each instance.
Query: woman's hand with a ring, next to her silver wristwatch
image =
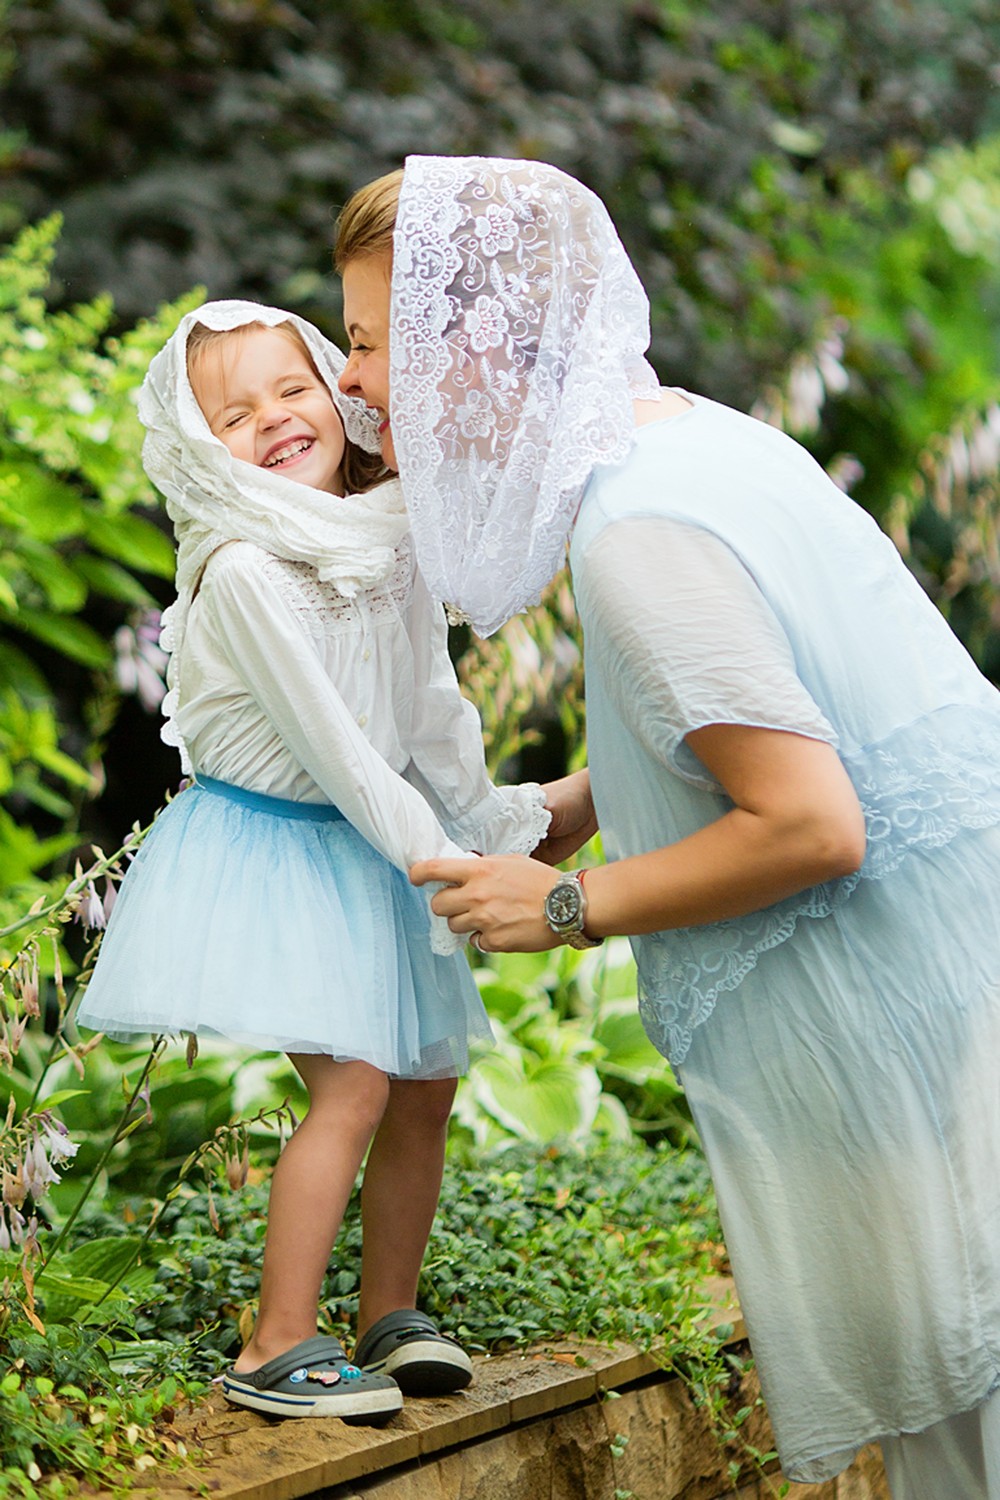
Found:
[[[447,916],[453,933],[478,933],[483,952],[543,952],[559,944],[543,912],[556,876],[538,860],[522,854],[420,860],[409,879],[414,885],[444,882],[432,910]]]

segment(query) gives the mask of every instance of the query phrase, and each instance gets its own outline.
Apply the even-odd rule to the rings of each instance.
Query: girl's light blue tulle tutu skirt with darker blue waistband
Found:
[[[330,806],[199,777],[156,819],[115,902],[78,1023],[328,1053],[453,1077],[490,1026],[427,897]]]

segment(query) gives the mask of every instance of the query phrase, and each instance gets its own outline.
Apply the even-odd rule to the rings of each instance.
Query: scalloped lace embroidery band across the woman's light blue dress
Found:
[[[1000,824],[999,744],[997,712],[949,705],[844,756],[868,840],[856,874],[747,916],[633,939],[639,1011],[654,1047],[679,1065],[720,994],[735,990],[763,952],[787,942],[801,918],[829,916],[862,879],[883,880],[919,850]]]

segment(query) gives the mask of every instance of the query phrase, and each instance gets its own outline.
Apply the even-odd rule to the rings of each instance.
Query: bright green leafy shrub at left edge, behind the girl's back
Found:
[[[139,464],[135,388],[198,300],[108,338],[106,297],[51,312],[60,219],[0,254],[0,912],[72,848],[120,687],[109,634],[172,574]],[[39,834],[39,828],[42,832]]]

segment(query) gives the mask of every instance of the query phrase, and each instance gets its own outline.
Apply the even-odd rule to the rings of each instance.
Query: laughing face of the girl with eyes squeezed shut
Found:
[[[343,494],[343,422],[294,333],[249,326],[213,339],[192,354],[190,386],[235,459]]]

